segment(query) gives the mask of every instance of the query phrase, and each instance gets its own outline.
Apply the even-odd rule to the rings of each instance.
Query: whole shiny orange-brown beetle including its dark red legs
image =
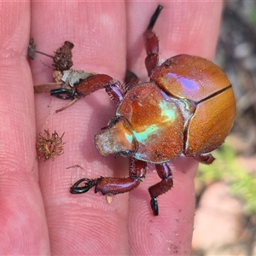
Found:
[[[172,189],[172,171],[167,162],[183,155],[211,164],[214,158],[210,152],[224,143],[236,114],[230,81],[211,61],[177,55],[158,67],[158,39],[152,28],[161,9],[156,9],[143,35],[149,82],[138,83],[137,77],[128,73],[127,88],[106,75],[96,74],[74,89],[86,96],[105,88],[117,103],[116,115],[96,135],[95,143],[103,156],[129,157],[129,177],[82,178],[70,189],[80,194],[95,186],[95,192],[103,195],[125,193],[143,181],[147,162],[154,163],[161,178],[148,189],[154,215],[159,214],[157,196]],[[55,93],[58,90],[52,90]]]

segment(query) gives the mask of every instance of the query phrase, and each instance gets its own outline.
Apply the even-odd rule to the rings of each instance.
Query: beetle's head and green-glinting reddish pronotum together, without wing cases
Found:
[[[113,120],[96,135],[96,147],[102,155],[127,152],[138,160],[161,163],[182,154],[183,113],[154,83],[129,90]]]

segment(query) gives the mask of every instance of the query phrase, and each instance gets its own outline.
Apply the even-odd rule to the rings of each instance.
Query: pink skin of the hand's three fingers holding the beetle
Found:
[[[82,177],[128,173],[128,161],[103,158],[94,134],[114,115],[102,91],[61,113],[67,102],[40,94],[33,84],[52,82],[51,60],[27,61],[30,37],[37,49],[52,54],[65,40],[73,42],[73,68],[124,79],[126,68],[146,79],[142,34],[158,3],[88,2],[1,3],[0,14],[0,254],[190,255],[197,162],[172,161],[174,188],[159,197],[160,216],[149,206],[148,187],[159,182],[149,172],[139,188],[124,195],[71,195]],[[163,2],[154,26],[160,59],[186,53],[212,59],[221,2]],[[209,19],[209,14],[211,17]],[[63,137],[65,153],[54,161],[37,161],[39,132]],[[81,168],[66,169],[79,164]],[[153,167],[150,168],[154,169]]]

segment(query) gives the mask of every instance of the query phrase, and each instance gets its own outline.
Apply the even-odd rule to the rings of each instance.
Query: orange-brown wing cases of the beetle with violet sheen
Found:
[[[177,55],[157,67],[150,76],[167,94],[195,102],[183,153],[195,156],[224,143],[236,115],[236,99],[225,73],[211,61]]]

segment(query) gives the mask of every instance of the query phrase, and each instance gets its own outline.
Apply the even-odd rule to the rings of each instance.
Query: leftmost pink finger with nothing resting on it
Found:
[[[0,254],[48,254],[38,186],[32,78],[26,61],[30,3],[1,3]]]

